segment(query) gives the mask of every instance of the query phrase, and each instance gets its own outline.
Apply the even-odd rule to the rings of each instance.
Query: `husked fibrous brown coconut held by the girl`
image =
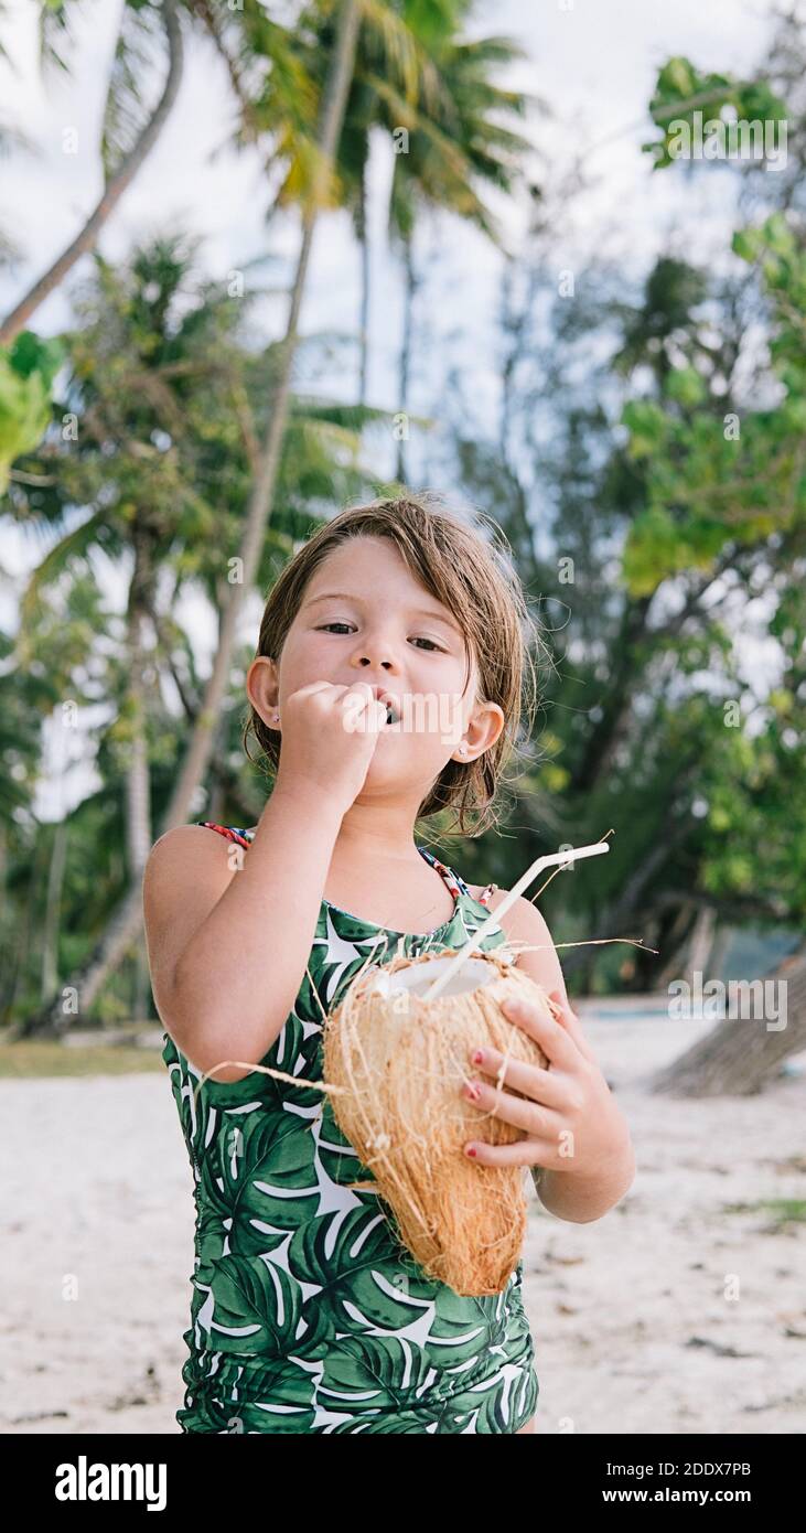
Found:
[[[524,1167],[480,1165],[463,1147],[469,1139],[512,1144],[526,1133],[477,1107],[461,1085],[473,1073],[470,1055],[478,1047],[547,1067],[542,1049],[501,1012],[504,1000],[527,1000],[550,1016],[556,1009],[539,984],[495,950],[473,950],[457,981],[466,986],[463,993],[449,987],[429,1001],[412,989],[428,989],[431,978],[401,980],[401,970],[434,966],[455,950],[400,955],[362,970],[325,1018],[323,1075],[337,1087],[331,1105],[339,1128],[375,1177],[352,1185],[371,1187],[386,1200],[403,1243],[429,1277],[457,1294],[498,1294],[526,1239]],[[378,975],[389,993],[378,989]],[[492,1076],[483,1078],[495,1085]]]

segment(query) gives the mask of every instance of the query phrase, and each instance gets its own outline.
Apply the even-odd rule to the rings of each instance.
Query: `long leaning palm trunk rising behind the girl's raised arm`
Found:
[[[241,615],[245,595],[254,583],[260,558],[265,529],[271,514],[280,461],[280,448],[288,417],[291,366],[297,343],[297,322],[305,291],[305,279],[308,274],[313,233],[322,202],[323,184],[339,147],[339,136],[342,132],[355,58],[355,40],[359,34],[360,15],[360,0],[342,0],[336,49],[322,101],[316,185],[310,202],[303,208],[302,242],[297,258],[297,270],[294,274],[294,285],[291,290],[288,325],[280,343],[277,386],[271,400],[270,420],[247,507],[247,524],[241,543],[241,581],[233,583],[227,589],[227,602],[224,606],[221,621],[221,639],[213,661],[213,670],[207,682],[201,713],[190,737],[190,745],[176,782],[176,788],[165,811],[161,834],[172,829],[175,825],[182,825],[187,820],[196,789],[204,780],[215,745],[215,730],[221,714],[221,704],[230,673],[238,618]],[[87,1013],[95,996],[98,995],[98,990],[118,966],[130,947],[132,940],[141,929],[143,888],[141,880],[136,878],[130,883],[127,892],[121,898],[93,952],[89,955],[81,969],[70,978],[70,986],[78,989],[80,1012],[83,1015]],[[57,996],[52,1004],[37,1016],[28,1018],[17,1036],[31,1036],[32,1033],[41,1035],[54,1030],[58,1033],[66,1026],[69,1026],[69,1018],[64,1016],[61,998]]]

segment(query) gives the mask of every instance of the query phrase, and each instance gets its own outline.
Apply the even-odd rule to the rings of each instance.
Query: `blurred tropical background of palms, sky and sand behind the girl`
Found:
[[[533,1211],[538,1430],[803,1420],[804,64],[768,0],[0,6],[8,1429],[175,1430],[143,868],[257,822],[265,593],[406,487],[495,518],[544,641],[501,826],[420,839],[510,886],[613,831],[539,904],[639,1177]]]

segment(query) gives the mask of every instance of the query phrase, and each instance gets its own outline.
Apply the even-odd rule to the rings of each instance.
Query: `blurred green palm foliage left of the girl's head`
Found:
[[[173,609],[187,589],[205,595],[216,613],[228,560],[239,552],[250,445],[276,377],[276,346],[254,348],[250,314],[257,297],[259,290],[247,290],[234,299],[224,285],[198,279],[195,245],[181,236],[135,250],[120,270],[97,256],[95,279],[75,299],[77,325],[63,337],[63,389],[48,409],[49,422],[74,419],[75,429],[54,429],[15,458],[20,472],[9,483],[6,515],[46,533],[48,549],[21,595],[20,630],[8,645],[14,668],[0,678],[9,736],[0,724],[0,823],[9,823],[15,846],[9,918],[37,911],[37,931],[43,929],[48,860],[34,877],[29,802],[41,768],[41,725],[58,725],[66,704],[83,719],[81,740],[103,780],[67,817],[58,973],[86,958],[126,892],[127,776],[138,740],[146,745],[156,826],[204,693],[193,645]],[[308,339],[308,353],[314,346],[316,337]],[[35,353],[25,337],[20,354],[32,366]],[[293,397],[259,590],[273,583],[294,540],[305,538],[334,503],[371,491],[362,431],[385,419],[382,411],[322,396]],[[141,612],[146,656],[136,670],[126,616],[101,599],[98,555],[126,572],[129,599]],[[253,650],[242,647],[234,656],[215,771],[241,805],[251,794],[257,816],[259,785],[241,748],[242,678]],[[141,687],[133,688],[135,679]],[[69,731],[63,744],[69,747]],[[12,823],[20,808],[23,837]],[[49,840],[51,832],[40,829],[43,854]],[[21,963],[17,1015],[41,1003],[37,941]],[[95,1015],[109,1021],[130,1015],[132,983],[127,961],[104,987]]]

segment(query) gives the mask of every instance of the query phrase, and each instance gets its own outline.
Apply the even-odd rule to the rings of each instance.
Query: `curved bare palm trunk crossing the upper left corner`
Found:
[[[106,184],[100,202],[90,213],[81,233],[77,235],[77,238],[67,245],[66,250],[63,250],[58,261],[54,261],[54,265],[49,267],[44,276],[38,277],[34,287],[26,293],[23,299],[20,299],[17,307],[12,308],[11,313],[6,314],[5,320],[0,323],[0,346],[6,346],[9,345],[11,340],[14,340],[17,333],[23,330],[23,327],[28,323],[34,310],[37,310],[40,304],[44,302],[48,294],[58,287],[58,284],[63,281],[67,271],[80,259],[80,256],[86,254],[87,250],[92,250],[95,247],[98,235],[104,227],[109,215],[120,202],[129,184],[133,181],[135,175],[143,166],[143,161],[153,149],[164,127],[164,123],[179,92],[179,83],[182,78],[184,49],[182,49],[182,29],[179,25],[179,17],[176,14],[176,0],[162,0],[162,14],[165,20],[165,35],[169,43],[169,71],[162,95],[152,117],[149,118],[149,123],[143,129],[143,133],[139,135],[135,147],[126,156],[120,170]]]

